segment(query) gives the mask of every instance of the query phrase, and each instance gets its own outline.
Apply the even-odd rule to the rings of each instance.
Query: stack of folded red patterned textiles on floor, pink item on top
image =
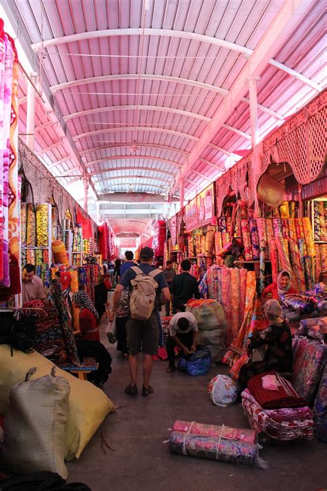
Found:
[[[270,372],[272,373],[272,372]],[[242,406],[253,430],[264,432],[275,440],[313,438],[313,414],[286,378],[276,375],[277,389],[262,387],[259,374],[248,381],[242,392]]]

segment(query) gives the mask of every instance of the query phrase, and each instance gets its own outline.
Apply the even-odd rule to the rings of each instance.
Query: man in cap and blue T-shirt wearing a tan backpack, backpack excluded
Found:
[[[141,263],[138,268],[144,274],[149,274],[154,271],[152,267],[153,250],[150,247],[143,247],[140,253]],[[113,310],[119,314],[119,302],[121,292],[124,288],[131,286],[131,280],[137,276],[133,268],[129,268],[117,285],[113,298]],[[128,340],[129,358],[128,364],[130,368],[130,384],[126,387],[125,392],[130,396],[137,395],[137,372],[139,369],[139,352],[143,352],[143,388],[142,396],[148,397],[153,393],[152,387],[149,385],[150,376],[152,373],[152,356],[157,354],[159,344],[159,324],[157,320],[157,309],[159,305],[164,305],[170,299],[168,284],[164,273],[159,273],[155,276],[155,281],[158,283],[157,299],[155,309],[153,310],[148,320],[137,320],[129,318],[126,331]]]

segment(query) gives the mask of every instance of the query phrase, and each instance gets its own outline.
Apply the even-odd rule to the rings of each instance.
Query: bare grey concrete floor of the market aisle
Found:
[[[105,338],[103,343],[108,346]],[[81,481],[92,491],[316,491],[327,488],[327,446],[317,439],[261,450],[268,470],[170,454],[168,428],[175,419],[248,428],[241,404],[217,407],[206,387],[226,367],[213,367],[207,376],[166,374],[166,362],[156,361],[149,398],[124,394],[128,362],[109,345],[112,374],[104,387],[119,406],[107,416],[78,461],[68,463],[69,482]],[[141,389],[139,376],[139,389]],[[101,450],[101,432],[112,450]]]

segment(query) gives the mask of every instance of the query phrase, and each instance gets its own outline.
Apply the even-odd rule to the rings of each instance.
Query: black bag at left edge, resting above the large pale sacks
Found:
[[[19,318],[19,313],[3,314],[1,317],[0,345],[10,345],[23,353],[34,351],[35,319],[32,316]]]

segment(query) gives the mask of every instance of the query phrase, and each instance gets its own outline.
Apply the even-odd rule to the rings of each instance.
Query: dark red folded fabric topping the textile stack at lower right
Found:
[[[257,403],[266,410],[276,410],[282,407],[303,407],[308,403],[304,398],[299,397],[292,384],[286,381],[285,378],[277,376],[281,385],[278,390],[266,390],[262,387],[262,377],[267,374],[275,374],[276,372],[266,372],[264,374],[255,375],[248,381],[248,389]]]

